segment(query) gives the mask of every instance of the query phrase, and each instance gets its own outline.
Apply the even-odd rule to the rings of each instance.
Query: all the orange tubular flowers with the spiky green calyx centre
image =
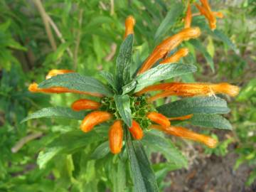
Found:
[[[208,19],[210,23],[210,28],[215,28],[215,16],[220,14],[210,10],[210,6],[206,0],[201,0],[201,6],[196,4],[196,7],[200,13]],[[166,38],[164,41],[159,43],[156,48],[152,51],[148,58],[142,63],[141,68],[137,71],[137,76],[145,73],[147,70],[152,68],[156,62],[159,61],[159,65],[165,65],[166,63],[176,63],[182,57],[188,54],[187,48],[181,48],[176,51],[173,55],[168,57],[168,54],[174,48],[177,48],[183,41],[188,41],[191,38],[198,38],[201,35],[201,30],[198,27],[191,27],[191,5],[188,3],[188,9],[186,11],[186,17],[184,18],[185,26],[183,30],[176,33],[174,36]],[[125,35],[127,38],[130,34],[134,34],[135,19],[129,16],[125,21]],[[50,79],[55,75],[62,75],[65,73],[74,73],[72,70],[50,70],[46,79]],[[132,98],[132,126],[127,127],[124,124],[122,117],[119,113],[113,109],[110,110],[110,105],[115,107],[114,99],[107,95],[102,95],[95,92],[82,92],[78,90],[73,90],[67,87],[48,87],[39,88],[36,83],[29,86],[28,90],[31,92],[44,92],[44,93],[63,93],[63,92],[75,92],[84,95],[92,95],[94,97],[99,97],[100,102],[95,102],[93,100],[81,99],[73,102],[71,106],[74,111],[80,110],[92,110],[89,114],[85,116],[80,124],[80,129],[82,132],[90,132],[97,124],[102,122],[107,122],[113,120],[110,130],[109,130],[109,144],[110,151],[113,154],[118,154],[122,150],[123,145],[123,129],[129,129],[134,139],[142,139],[144,136],[144,131],[146,129],[158,129],[166,134],[171,134],[176,137],[182,137],[185,139],[191,139],[196,142],[201,142],[209,147],[215,147],[217,141],[211,137],[203,134],[197,134],[184,127],[175,127],[171,124],[174,120],[186,120],[193,117],[193,114],[189,114],[183,117],[172,117],[168,118],[164,114],[160,114],[154,109],[151,102],[158,100],[159,98],[169,97],[172,95],[180,97],[193,97],[193,96],[203,96],[208,97],[215,94],[226,94],[230,96],[235,96],[239,92],[239,88],[230,85],[226,82],[218,84],[209,83],[183,83],[183,82],[168,82],[161,83],[158,85],[151,85],[145,87],[139,92],[132,92],[129,97]],[[153,96],[148,96],[148,92],[160,91]]]

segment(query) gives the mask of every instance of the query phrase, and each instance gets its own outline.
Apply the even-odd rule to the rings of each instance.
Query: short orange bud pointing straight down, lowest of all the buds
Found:
[[[122,121],[117,120],[112,124],[109,132],[110,151],[112,154],[119,154],[121,151],[123,135]]]

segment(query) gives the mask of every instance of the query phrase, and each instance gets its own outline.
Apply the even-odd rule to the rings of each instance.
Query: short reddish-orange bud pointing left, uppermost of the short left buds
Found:
[[[77,100],[73,102],[71,108],[74,111],[80,110],[97,110],[100,107],[100,102],[95,102],[92,100]]]

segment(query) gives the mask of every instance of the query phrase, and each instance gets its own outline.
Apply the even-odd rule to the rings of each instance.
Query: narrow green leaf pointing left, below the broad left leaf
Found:
[[[38,119],[38,118],[65,118],[65,119],[83,119],[87,112],[75,112],[68,107],[47,107],[32,114],[29,114],[28,117],[23,119],[21,123],[28,121],[29,119]]]

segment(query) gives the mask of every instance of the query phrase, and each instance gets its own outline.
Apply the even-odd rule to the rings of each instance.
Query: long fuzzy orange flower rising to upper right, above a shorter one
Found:
[[[182,41],[188,41],[190,38],[197,38],[200,36],[201,31],[198,27],[193,28],[184,28],[179,33],[176,33],[174,36],[166,38],[162,41],[156,48],[154,48],[153,52],[142,64],[142,68],[139,69],[137,75],[144,73],[146,70],[149,70],[157,60],[164,58],[166,54],[176,48]]]

